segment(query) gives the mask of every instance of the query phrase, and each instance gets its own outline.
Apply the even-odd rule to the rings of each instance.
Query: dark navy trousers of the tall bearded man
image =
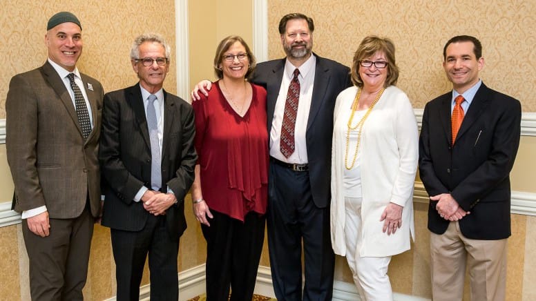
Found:
[[[271,163],[268,201],[268,249],[277,299],[332,300],[335,255],[329,233],[329,205],[318,208],[314,204],[309,172]]]

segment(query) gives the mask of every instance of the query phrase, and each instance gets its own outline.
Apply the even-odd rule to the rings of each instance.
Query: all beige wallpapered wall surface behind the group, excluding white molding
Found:
[[[252,3],[247,0],[189,1],[190,83],[213,79],[212,61],[217,43],[227,35],[241,35],[252,47]],[[79,61],[82,72],[99,79],[104,88],[114,90],[137,80],[128,62],[128,49],[135,35],[151,30],[162,33],[175,45],[175,10],[173,0],[156,0],[144,6],[142,1],[122,1],[120,8],[108,9],[101,1],[59,0],[17,1],[17,6],[0,8],[3,42],[0,43],[0,119],[5,118],[4,102],[10,77],[41,66],[46,59],[43,37],[48,17],[59,10],[75,12],[84,27],[84,54]],[[455,6],[458,5],[458,6]],[[283,1],[268,0],[269,57],[283,57],[277,23],[288,12],[304,12],[314,18],[314,50],[318,55],[350,64],[359,41],[369,34],[391,37],[396,46],[401,68],[399,86],[416,108],[450,88],[441,69],[443,43],[452,35],[477,35],[484,43],[486,68],[481,73],[489,86],[521,99],[525,112],[536,110],[536,99],[530,93],[536,86],[535,1],[472,3],[412,0],[403,2],[370,1]],[[140,8],[144,7],[142,11]],[[162,8],[165,8],[162,10]],[[149,10],[150,12],[146,12]],[[361,13],[363,12],[363,13]],[[452,18],[463,19],[454,26]],[[155,16],[149,18],[147,16]],[[179,41],[180,42],[180,41]],[[175,53],[173,51],[173,53]],[[164,88],[175,93],[175,65]],[[6,165],[5,145],[0,144],[0,202],[12,195],[12,182]],[[536,192],[536,137],[521,137],[517,161],[511,175],[515,191]],[[191,204],[186,200],[186,204]],[[430,296],[428,230],[426,204],[415,206],[417,240],[412,251],[393,258],[390,275],[395,291],[410,295]],[[508,300],[534,300],[536,276],[532,250],[536,247],[536,217],[513,216],[513,237],[508,253]],[[204,262],[204,239],[193,219],[191,206],[186,206],[189,229],[181,238],[180,270]],[[20,226],[0,228],[0,270],[19,271],[0,275],[0,300],[28,299],[26,253]],[[261,265],[269,266],[267,247]],[[108,229],[95,226],[91,250],[87,300],[103,300],[115,295],[114,263]],[[149,282],[145,272],[143,283]],[[337,258],[336,280],[351,282],[344,258]]]

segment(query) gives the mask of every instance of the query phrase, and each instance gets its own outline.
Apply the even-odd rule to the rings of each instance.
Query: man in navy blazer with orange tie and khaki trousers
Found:
[[[426,104],[423,114],[419,171],[430,195],[434,300],[462,299],[466,264],[471,300],[504,300],[506,293],[509,173],[519,146],[521,104],[482,83],[481,53],[475,37],[446,43],[443,68],[454,89]],[[460,110],[463,122],[453,133],[451,114]]]

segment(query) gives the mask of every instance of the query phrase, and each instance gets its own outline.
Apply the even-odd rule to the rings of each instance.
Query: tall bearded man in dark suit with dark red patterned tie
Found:
[[[258,64],[251,78],[267,90],[267,229],[278,300],[332,300],[333,293],[335,255],[329,233],[333,111],[338,93],[351,82],[349,68],[312,52],[313,31],[313,20],[305,14],[285,15],[279,33],[287,57]],[[197,98],[195,93],[192,98]]]

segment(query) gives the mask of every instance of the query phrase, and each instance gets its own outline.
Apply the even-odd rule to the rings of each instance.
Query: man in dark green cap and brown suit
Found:
[[[6,148],[30,263],[32,300],[84,300],[103,89],[78,71],[82,26],[70,12],[47,24],[48,60],[10,81]]]

